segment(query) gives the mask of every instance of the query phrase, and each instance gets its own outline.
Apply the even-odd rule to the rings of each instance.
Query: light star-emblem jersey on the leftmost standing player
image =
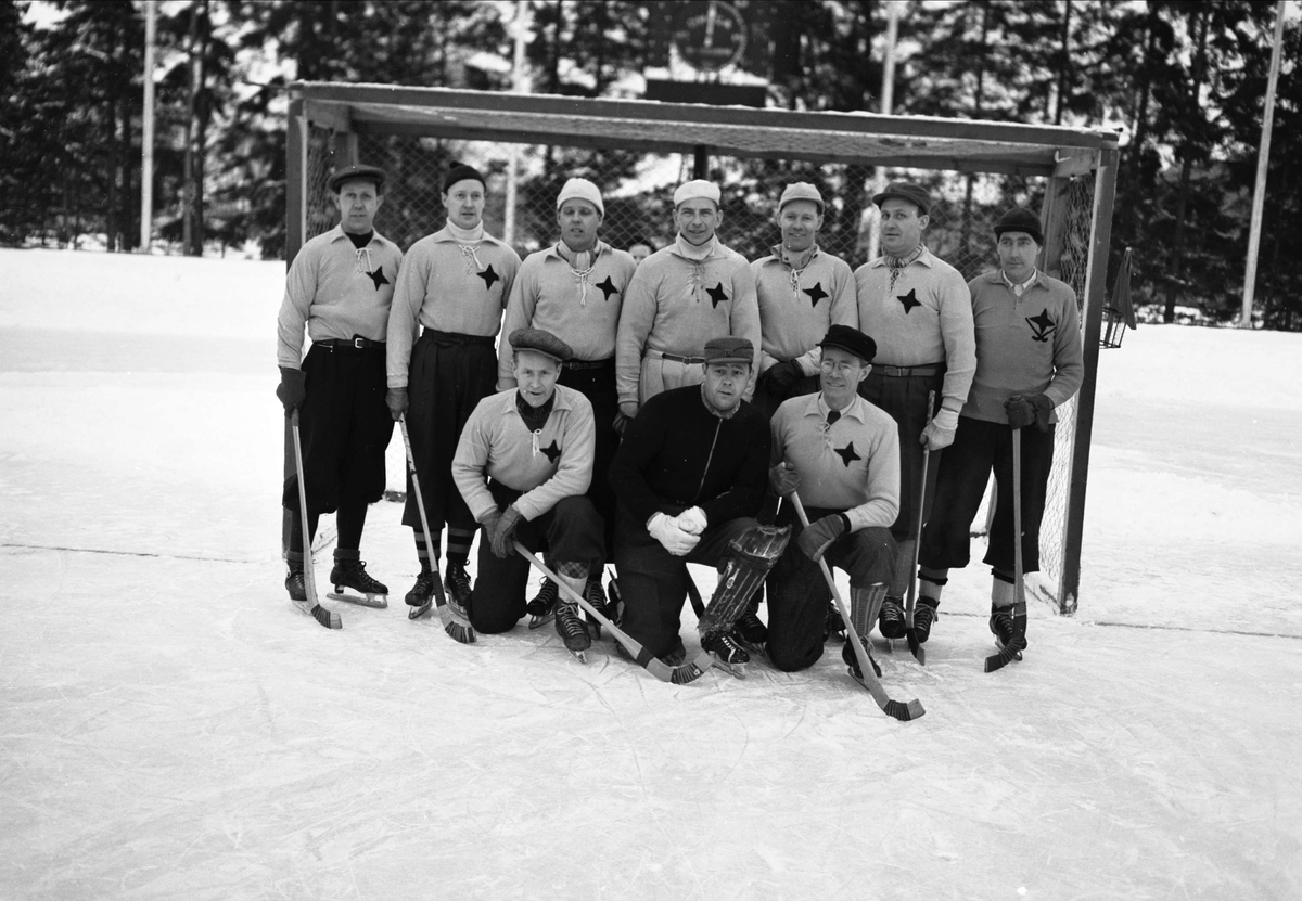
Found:
[[[354,247],[341,225],[309,241],[285,277],[276,320],[276,362],[297,370],[303,358],[303,323],[312,341],[361,335],[383,341],[402,251],[379,232]]]

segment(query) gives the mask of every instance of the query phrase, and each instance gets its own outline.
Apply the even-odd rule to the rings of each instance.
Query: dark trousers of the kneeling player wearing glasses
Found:
[[[837,510],[807,508],[810,522]],[[784,505],[779,525],[794,520]],[[798,526],[797,526],[798,529]],[[823,656],[823,625],[832,596],[819,565],[805,556],[796,536],[768,574],[768,656],[783,672],[806,669]],[[871,527],[841,535],[823,553],[829,568],[850,574],[850,586],[889,585],[896,566],[896,542],[889,529]],[[849,602],[849,599],[845,599]]]

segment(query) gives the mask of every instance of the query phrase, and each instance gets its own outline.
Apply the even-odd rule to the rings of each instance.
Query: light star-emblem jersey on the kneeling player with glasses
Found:
[[[850,531],[889,529],[900,514],[900,430],[862,397],[828,426],[823,395],[793,397],[768,423],[772,465],[786,461],[807,506],[844,510]]]

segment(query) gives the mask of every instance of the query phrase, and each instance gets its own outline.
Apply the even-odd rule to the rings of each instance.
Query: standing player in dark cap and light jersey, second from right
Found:
[[[922,242],[931,197],[918,185],[892,182],[872,198],[881,208],[881,256],[854,273],[859,328],[878,342],[872,372],[859,393],[900,427],[900,514],[891,533],[900,547],[894,578],[881,604],[884,638],[904,638],[904,595],[913,573],[913,529],[922,493],[923,448],[954,440],[958,411],[976,368],[973,307],[958,271]],[[927,409],[927,395],[935,406]],[[931,460],[937,462],[935,454]],[[935,466],[927,482],[935,484]],[[930,508],[923,505],[923,516]]]

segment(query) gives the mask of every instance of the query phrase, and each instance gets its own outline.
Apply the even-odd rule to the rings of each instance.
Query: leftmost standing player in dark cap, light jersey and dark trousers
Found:
[[[366,573],[361,560],[366,508],[384,496],[384,450],[393,419],[384,406],[384,340],[402,251],[375,230],[384,203],[384,172],[349,165],[331,176],[340,224],[303,245],[289,267],[276,323],[280,388],[288,417],[299,410],[307,516],[302,522],[298,477],[285,480],[289,510],[285,587],[296,602],[303,586],[303,529],[316,534],[322,513],[336,512],[339,544],[331,582],[387,603],[388,587]],[[303,326],[312,346],[305,358]],[[383,598],[383,600],[380,600]],[[363,603],[363,602],[358,602]]]

